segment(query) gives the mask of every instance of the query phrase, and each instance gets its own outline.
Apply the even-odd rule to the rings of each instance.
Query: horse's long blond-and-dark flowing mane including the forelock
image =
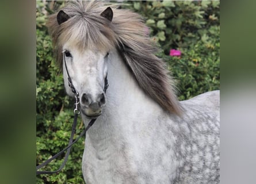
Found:
[[[62,8],[70,16],[66,22],[59,25],[57,13],[49,16],[47,26],[57,61],[62,64],[62,47],[67,40],[75,41],[81,49],[117,48],[143,91],[163,109],[180,115],[174,80],[165,62],[154,55],[157,48],[146,33],[143,18],[131,10],[111,5],[113,20],[110,22],[100,16],[106,7],[102,1],[71,1]]]

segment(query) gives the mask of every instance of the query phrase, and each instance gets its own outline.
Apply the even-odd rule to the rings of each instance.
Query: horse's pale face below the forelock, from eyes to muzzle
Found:
[[[107,75],[108,51],[87,50],[80,53],[79,49],[68,43],[63,46],[67,70],[72,84],[79,93],[81,112],[87,117],[100,116],[105,105],[105,79]],[[73,95],[68,86],[68,76],[63,62],[63,76],[66,91]]]

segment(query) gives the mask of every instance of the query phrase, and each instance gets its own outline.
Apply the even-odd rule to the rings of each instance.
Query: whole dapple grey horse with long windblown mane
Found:
[[[84,124],[96,119],[82,159],[87,184],[220,182],[220,92],[179,102],[139,14],[74,1],[47,26],[67,94],[70,78]]]

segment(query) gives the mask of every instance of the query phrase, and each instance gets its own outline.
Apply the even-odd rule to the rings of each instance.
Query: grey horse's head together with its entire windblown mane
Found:
[[[87,117],[100,116],[106,103],[107,63],[114,55],[111,53],[118,51],[142,90],[163,109],[181,114],[174,81],[163,60],[154,55],[157,49],[145,33],[147,26],[142,18],[114,5],[112,11],[102,2],[70,1],[47,21],[57,60],[62,63],[66,59],[79,93],[81,112]],[[64,62],[63,68],[66,91],[73,95]]]

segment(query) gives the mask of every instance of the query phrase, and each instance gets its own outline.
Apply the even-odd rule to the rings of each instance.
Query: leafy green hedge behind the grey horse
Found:
[[[150,28],[157,53],[177,80],[180,100],[220,86],[219,1],[123,1],[121,8],[141,14]],[[36,163],[40,164],[67,146],[72,126],[72,99],[64,92],[62,73],[55,63],[45,18],[64,2],[37,1],[36,7]],[[180,57],[169,55],[179,49]],[[78,120],[77,134],[83,122]],[[72,148],[58,175],[39,175],[36,183],[84,183],[81,171],[83,140]],[[63,156],[44,170],[56,170]]]

